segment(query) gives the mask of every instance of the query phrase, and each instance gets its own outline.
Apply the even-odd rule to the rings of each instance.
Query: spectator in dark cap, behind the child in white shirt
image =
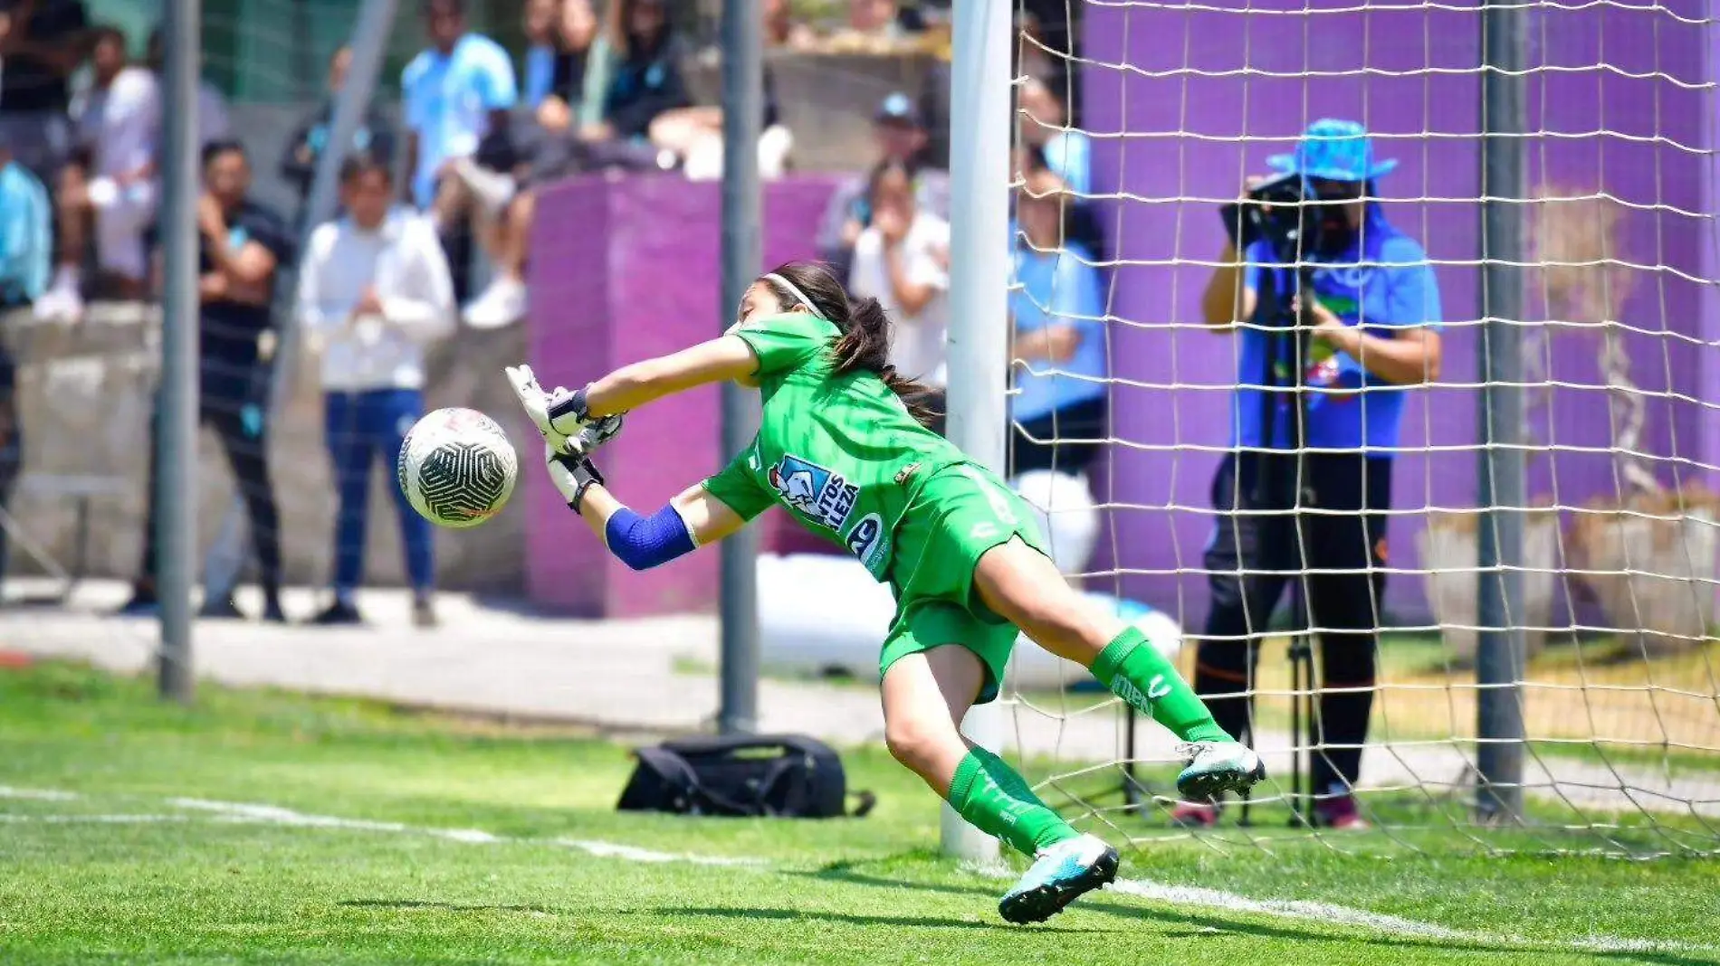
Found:
[[[908,95],[898,91],[884,98],[872,119],[872,139],[879,153],[875,165],[896,163],[908,170],[915,210],[948,220],[949,174],[920,163],[925,151],[925,124]],[[870,177],[855,175],[831,194],[819,223],[819,258],[827,261],[839,278],[850,273],[855,242],[870,223]]]

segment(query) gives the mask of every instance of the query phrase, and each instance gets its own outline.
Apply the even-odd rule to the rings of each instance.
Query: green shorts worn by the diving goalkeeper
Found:
[[[879,653],[879,676],[903,655],[960,645],[986,665],[979,703],[998,696],[1017,629],[980,603],[974,567],[992,547],[1020,538],[1046,552],[1034,511],[992,473],[949,466],[920,485],[896,523],[891,588],[896,617]]]

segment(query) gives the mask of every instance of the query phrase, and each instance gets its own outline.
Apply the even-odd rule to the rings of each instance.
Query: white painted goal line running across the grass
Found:
[[[0,798],[33,798],[48,801],[65,801],[79,796],[76,792],[62,792],[55,789],[12,789],[0,786]],[[576,849],[595,858],[619,858],[619,859],[648,861],[648,863],[679,861],[679,863],[709,865],[709,866],[748,866],[748,868],[769,870],[767,861],[753,858],[659,853],[652,849],[642,849],[636,846],[626,846],[621,842],[604,842],[593,839],[514,839],[507,835],[482,832],[476,828],[430,828],[430,827],[404,825],[399,822],[370,822],[363,818],[310,815],[303,811],[294,811],[291,808],[282,808],[277,804],[210,801],[200,798],[170,798],[167,799],[167,804],[174,808],[189,810],[194,813],[210,815],[217,822],[287,825],[298,828],[346,828],[359,832],[432,835],[437,839],[470,842],[470,844],[552,846],[552,847]],[[0,822],[48,822],[48,823],[76,823],[76,822],[146,823],[146,822],[186,822],[189,818],[191,816],[184,813],[169,813],[169,815],[0,813]],[[991,861],[980,865],[965,863],[963,868],[967,871],[974,871],[987,878],[1017,877],[1017,871],[1003,861]],[[1514,945],[1514,947],[1531,947],[1531,949],[1555,947],[1555,949],[1574,949],[1584,952],[1720,952],[1720,947],[1715,945],[1620,938],[1610,935],[1589,935],[1579,940],[1536,940],[1527,937],[1457,930],[1450,926],[1441,926],[1438,923],[1422,923],[1417,920],[1405,920],[1402,916],[1391,916],[1386,913],[1373,913],[1369,909],[1338,906],[1335,902],[1316,902],[1305,899],[1250,899],[1247,896],[1237,892],[1226,892],[1223,889],[1207,889],[1202,885],[1171,885],[1166,882],[1152,882],[1144,878],[1121,878],[1111,885],[1111,890],[1121,892],[1125,896],[1135,896],[1139,899],[1147,899],[1151,902],[1163,902],[1166,906],[1219,909],[1225,913],[1249,913],[1259,916],[1275,916],[1283,920],[1299,920],[1312,923],[1336,923],[1345,926],[1366,928],[1385,935],[1402,935],[1402,937],[1428,938],[1436,942],[1440,940],[1474,942],[1484,945]]]

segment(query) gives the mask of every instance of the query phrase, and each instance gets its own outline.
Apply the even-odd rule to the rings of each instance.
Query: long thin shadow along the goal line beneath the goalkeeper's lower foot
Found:
[[[925,858],[925,853],[903,853],[903,854],[898,854],[898,856],[889,856],[889,858],[882,858],[882,859],[865,859],[865,861],[838,861],[838,863],[831,863],[831,865],[827,865],[824,868],[819,868],[819,870],[814,870],[814,871],[783,871],[783,875],[796,875],[796,877],[805,877],[805,878],[817,878],[820,882],[845,882],[845,883],[851,883],[851,885],[870,885],[870,887],[877,887],[877,889],[912,889],[912,890],[918,890],[918,892],[941,892],[941,894],[946,894],[946,896],[986,896],[986,897],[992,897],[996,894],[996,890],[992,890],[992,889],[982,889],[982,887],[977,887],[977,885],[944,885],[944,883],[932,883],[932,882],[912,882],[912,880],[905,880],[905,878],[886,878],[886,877],[881,877],[881,875],[869,875],[865,871],[860,871],[862,865],[889,863],[889,861],[896,861],[896,859],[903,859],[903,858]],[[1151,902],[1151,901],[1149,899],[1142,899],[1142,902]],[[1190,930],[1190,932],[1195,932],[1195,933],[1230,932],[1230,933],[1242,933],[1242,935],[1252,935],[1252,937],[1261,937],[1261,938],[1281,938],[1281,940],[1299,940],[1299,942],[1364,944],[1364,945],[1378,945],[1378,947],[1386,947],[1386,949],[1404,949],[1404,947],[1445,949],[1445,951],[1464,951],[1464,952],[1507,956],[1507,957],[1512,957],[1512,959],[1520,957],[1520,956],[1524,956],[1524,952],[1533,952],[1533,951],[1553,951],[1553,949],[1562,949],[1562,951],[1569,951],[1569,952],[1577,952],[1579,951],[1576,944],[1567,944],[1567,942],[1560,942],[1560,940],[1531,940],[1531,942],[1524,942],[1524,944],[1514,944],[1514,942],[1498,942],[1498,944],[1493,944],[1493,942],[1481,942],[1481,940],[1476,940],[1476,938],[1434,938],[1434,937],[1412,937],[1412,935],[1393,935],[1393,933],[1373,933],[1373,935],[1369,935],[1369,933],[1362,932],[1361,928],[1357,930],[1361,935],[1333,935],[1330,932],[1311,933],[1311,932],[1302,932],[1302,930],[1295,930],[1295,928],[1283,928],[1283,926],[1271,926],[1271,925],[1264,925],[1264,923],[1247,921],[1247,920],[1240,920],[1240,918],[1235,918],[1235,916],[1225,916],[1225,914],[1175,911],[1175,909],[1154,908],[1154,906],[1147,906],[1147,904],[1135,906],[1135,904],[1121,904],[1121,902],[1106,902],[1103,899],[1094,899],[1092,896],[1089,896],[1085,899],[1078,899],[1070,908],[1072,909],[1089,911],[1089,913],[1106,913],[1106,914],[1111,914],[1111,916],[1121,916],[1121,918],[1128,918],[1128,920],[1151,920],[1151,921],[1156,921],[1156,923],[1176,925],[1176,926],[1182,926],[1183,930]],[[1323,925],[1323,923],[1311,923],[1311,925]],[[1338,928],[1338,926],[1324,926],[1324,928]],[[1182,933],[1182,932],[1178,932],[1178,933],[1166,932],[1166,935],[1187,935],[1187,933]],[[1598,951],[1598,949],[1582,949],[1581,952],[1584,956],[1591,957],[1594,963],[1603,963],[1603,961],[1658,963],[1662,966],[1713,966],[1713,963],[1715,963],[1713,959],[1679,956],[1675,952],[1656,952],[1656,951]]]

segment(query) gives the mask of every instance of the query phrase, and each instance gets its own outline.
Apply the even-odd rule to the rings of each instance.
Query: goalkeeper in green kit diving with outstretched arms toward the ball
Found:
[[[965,820],[1037,859],[998,911],[1041,921],[1111,882],[1118,854],[958,731],[970,705],[998,696],[1017,627],[1189,743],[1183,798],[1245,789],[1264,768],[1140,631],[1070,590],[1029,507],[924,426],[920,387],[886,366],[888,349],[875,299],[850,301],[822,265],[796,261],[753,282],[736,323],[710,342],[571,394],[545,394],[526,366],[507,375],[568,505],[628,566],[716,543],[781,502],[891,584],[896,617],[879,655],[889,749]],[[764,395],[752,445],[648,517],[624,507],[590,452],[619,431],[623,413],[719,380]]]

